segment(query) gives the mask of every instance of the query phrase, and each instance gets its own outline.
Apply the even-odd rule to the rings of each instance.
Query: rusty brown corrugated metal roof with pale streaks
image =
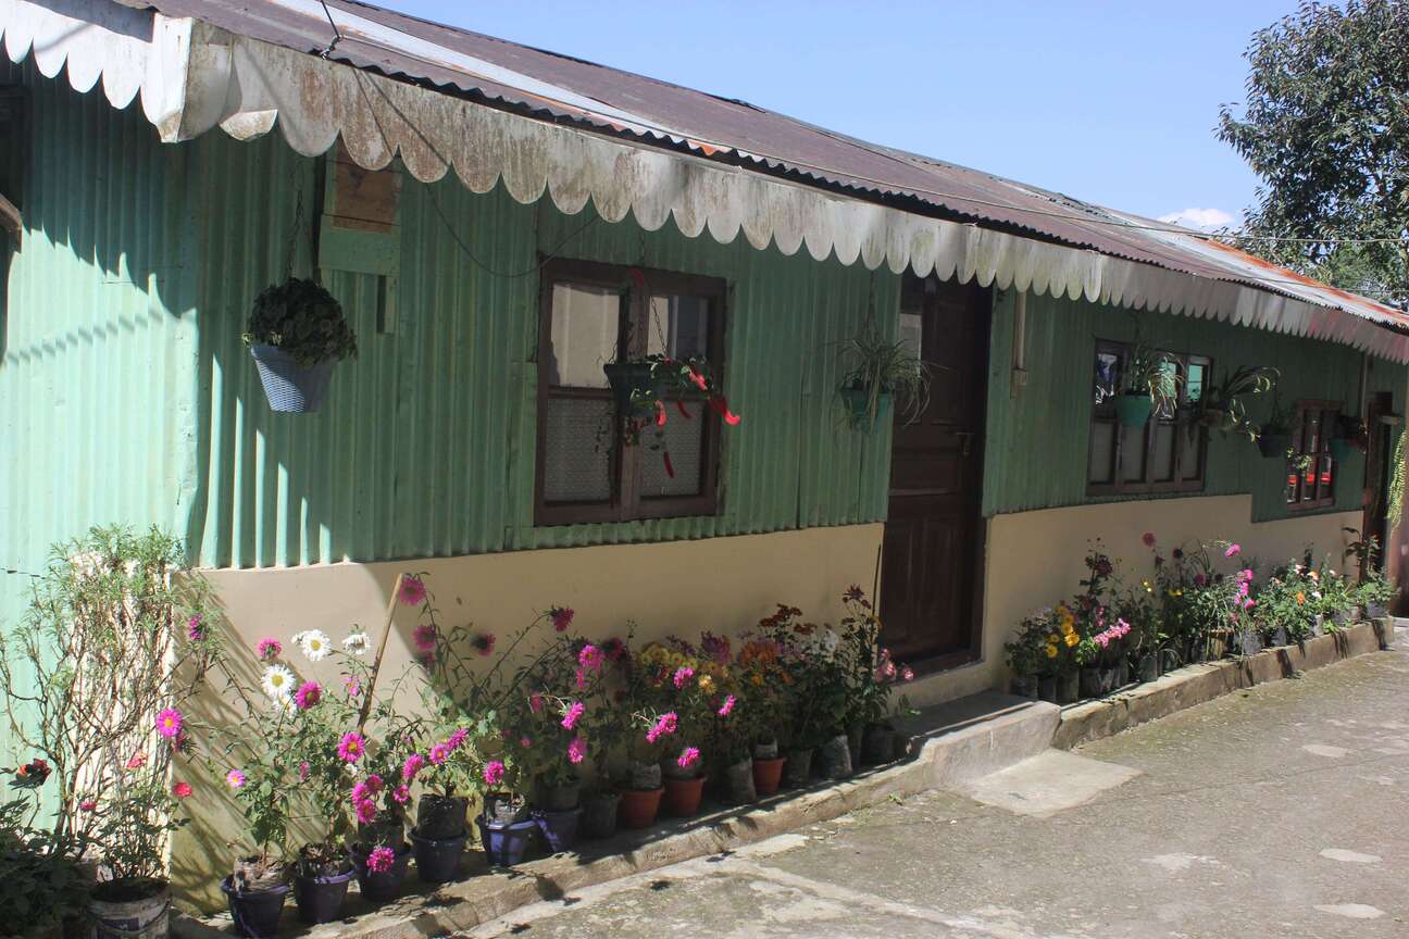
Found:
[[[1346,310],[1399,334],[1409,332],[1409,314],[1215,245],[1199,232],[858,141],[743,101],[371,4],[352,0],[327,0],[325,6],[320,0],[120,1],[168,17],[189,17],[299,53],[325,55],[506,111],[630,138],[651,148],[688,151],[912,215],[971,221],[1213,282],[1250,286]],[[330,15],[337,23],[337,34]],[[872,262],[868,259],[868,263]],[[1160,303],[1168,304],[1168,297]],[[1230,311],[1222,310],[1219,315],[1230,315]],[[1264,313],[1257,317],[1260,322],[1265,318]]]

